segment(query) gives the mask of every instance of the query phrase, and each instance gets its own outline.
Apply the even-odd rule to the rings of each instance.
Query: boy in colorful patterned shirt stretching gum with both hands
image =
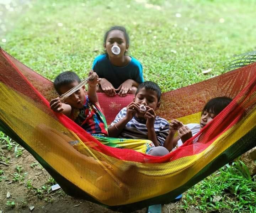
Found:
[[[65,103],[57,97],[50,101],[50,107],[54,112],[63,113],[75,123],[80,125],[90,134],[108,135],[107,123],[98,103],[96,93],[97,83],[100,81],[98,75],[90,71],[88,80],[88,91],[85,94],[85,87],[75,91]],[[60,73],[54,80],[54,87],[59,95],[62,95],[81,82],[74,72]]]

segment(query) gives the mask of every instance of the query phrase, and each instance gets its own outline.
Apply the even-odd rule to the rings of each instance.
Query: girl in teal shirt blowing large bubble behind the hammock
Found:
[[[144,82],[142,65],[135,58],[126,55],[129,36],[121,26],[111,27],[105,33],[103,46],[105,54],[95,58],[92,69],[101,78],[97,92],[108,96],[121,97],[135,94],[140,83]]]

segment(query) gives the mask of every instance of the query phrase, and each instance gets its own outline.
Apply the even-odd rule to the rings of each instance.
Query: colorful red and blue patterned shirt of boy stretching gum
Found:
[[[72,108],[71,118],[90,134],[108,136],[107,122],[100,106],[96,106],[86,96],[83,108]]]

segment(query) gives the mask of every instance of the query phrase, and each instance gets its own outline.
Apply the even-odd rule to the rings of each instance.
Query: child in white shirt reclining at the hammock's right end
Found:
[[[174,148],[181,146],[185,141],[196,135],[204,126],[206,126],[213,118],[215,118],[229,103],[232,101],[229,97],[215,97],[210,99],[204,106],[201,114],[200,124],[183,125],[180,121],[174,119],[170,123],[170,141],[169,144],[164,144],[167,150],[171,151]],[[178,131],[178,136],[174,137]],[[148,154],[159,156],[166,155],[167,150],[158,150],[158,147],[152,148]],[[169,152],[168,151],[168,152]],[[160,153],[161,152],[161,153]]]

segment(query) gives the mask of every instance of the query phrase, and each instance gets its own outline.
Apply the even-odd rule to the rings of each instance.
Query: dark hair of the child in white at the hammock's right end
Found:
[[[224,110],[224,108],[226,108],[226,106],[228,106],[231,101],[233,100],[226,96],[215,97],[213,99],[210,99],[204,106],[202,113],[204,111],[207,111],[217,115],[222,110]]]

